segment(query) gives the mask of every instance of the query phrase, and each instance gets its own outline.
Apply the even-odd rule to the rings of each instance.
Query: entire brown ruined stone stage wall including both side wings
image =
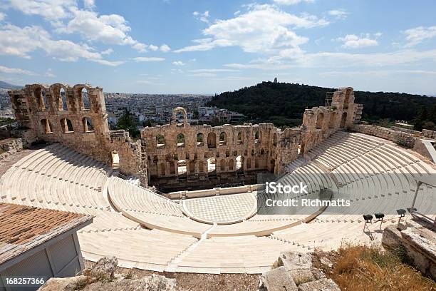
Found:
[[[185,109],[175,108],[171,124],[144,128],[133,141],[126,131],[109,130],[102,88],[33,84],[9,96],[25,145],[62,143],[164,190],[256,183],[258,173],[279,175],[338,129],[358,123],[362,112],[350,87],[329,93],[326,106],[306,109],[300,128],[284,131],[272,123],[190,126]]]

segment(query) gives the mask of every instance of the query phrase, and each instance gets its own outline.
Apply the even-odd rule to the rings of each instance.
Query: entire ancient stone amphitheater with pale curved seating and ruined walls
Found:
[[[61,106],[61,86],[68,108]],[[83,88],[90,108],[85,108]],[[101,88],[31,85],[9,94],[22,126],[16,134],[28,144],[48,145],[32,150],[1,176],[0,203],[93,215],[93,223],[78,233],[82,255],[90,261],[115,255],[120,266],[143,270],[261,273],[283,250],[378,242],[380,230],[398,223],[395,210],[411,207],[417,180],[435,179],[434,161],[422,150],[431,148],[422,141],[436,136],[406,135],[405,141],[390,132],[380,138],[382,130],[360,123],[362,107],[354,103],[352,88],[338,89],[326,106],[307,109],[300,128],[190,126],[186,118],[178,122],[177,112],[184,111],[177,108],[172,124],[145,128],[139,141],[108,130]],[[85,118],[92,120],[92,130]],[[185,144],[176,141],[180,132]],[[207,145],[196,138],[199,132],[208,136]],[[166,143],[157,142],[157,133]],[[212,139],[209,133],[217,135]],[[407,148],[410,136],[414,146]],[[214,169],[209,170],[212,157]],[[179,159],[186,160],[180,176]],[[286,199],[328,193],[328,199],[350,200],[353,208],[264,212],[271,195],[251,183],[261,173],[275,174],[284,185],[308,185],[307,194]],[[137,177],[140,185],[125,176]],[[246,183],[217,186],[237,180]],[[195,181],[202,185],[198,190],[156,190],[162,184],[189,188]],[[419,190],[414,207],[434,217],[435,188],[422,184]],[[374,213],[385,213],[383,222],[365,225],[362,215]]]

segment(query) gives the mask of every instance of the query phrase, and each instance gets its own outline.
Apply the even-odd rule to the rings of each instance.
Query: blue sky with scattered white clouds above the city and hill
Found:
[[[0,80],[220,93],[273,80],[436,94],[436,1],[0,0]]]

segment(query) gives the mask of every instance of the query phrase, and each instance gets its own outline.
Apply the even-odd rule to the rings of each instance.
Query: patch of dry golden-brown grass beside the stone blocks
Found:
[[[333,268],[324,271],[341,290],[436,290],[435,281],[410,265],[403,248],[345,244],[326,255]]]

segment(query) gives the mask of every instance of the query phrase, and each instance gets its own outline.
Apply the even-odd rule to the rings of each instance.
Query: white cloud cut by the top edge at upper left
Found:
[[[9,0],[9,5],[26,15],[41,15],[49,21],[66,18],[77,7],[76,0]]]

